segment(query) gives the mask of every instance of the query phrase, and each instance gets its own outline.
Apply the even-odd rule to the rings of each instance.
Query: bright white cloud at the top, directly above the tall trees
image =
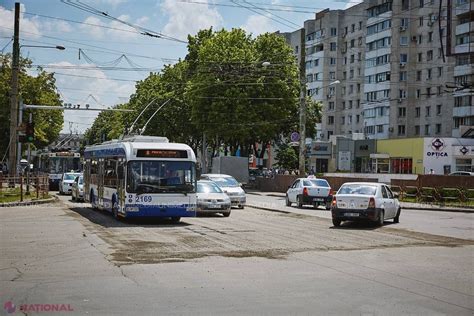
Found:
[[[186,39],[188,34],[194,35],[211,26],[219,29],[223,25],[220,13],[208,5],[193,6],[175,0],[164,0],[161,10],[169,16],[163,33],[180,39]]]

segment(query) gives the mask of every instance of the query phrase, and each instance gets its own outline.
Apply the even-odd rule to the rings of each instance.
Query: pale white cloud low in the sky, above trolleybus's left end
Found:
[[[64,76],[57,74],[56,85],[64,96],[65,103],[81,104],[82,107],[86,103],[90,104],[91,108],[103,108],[104,106],[113,106],[118,103],[128,101],[124,100],[124,96],[130,96],[135,92],[134,82],[122,82],[107,79],[105,74],[100,69],[86,70],[81,68],[95,66],[93,64],[72,64],[67,61],[49,64],[52,66],[60,67],[74,67],[73,69],[61,69],[58,73],[64,73],[71,76]],[[74,75],[95,77],[95,78],[84,78],[74,77]],[[92,95],[92,96],[91,96]],[[95,100],[97,99],[97,100]],[[88,126],[86,124],[92,124],[93,120],[97,116],[98,112],[87,112],[87,111],[65,111],[64,119],[68,122],[76,122],[73,124],[74,128],[79,131],[84,131]],[[69,131],[69,124],[66,122],[63,127],[63,132]]]

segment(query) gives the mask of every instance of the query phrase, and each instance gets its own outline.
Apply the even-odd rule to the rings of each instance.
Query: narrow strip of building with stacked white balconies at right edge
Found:
[[[472,0],[453,1],[453,136],[474,138],[474,4]]]

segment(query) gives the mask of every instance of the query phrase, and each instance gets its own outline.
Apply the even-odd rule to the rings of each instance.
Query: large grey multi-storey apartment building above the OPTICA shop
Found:
[[[368,0],[305,21],[307,94],[323,109],[319,139],[356,133],[368,139],[451,137],[459,126],[472,125],[465,115],[472,113],[472,106],[466,108],[472,95],[469,102],[463,95],[455,109],[459,91],[449,89],[456,80],[472,84],[474,59],[466,53],[474,45],[472,31],[465,43],[472,15],[456,9],[472,3],[450,1],[457,1],[456,14],[446,2],[440,10],[440,0]],[[454,49],[453,28],[460,36]],[[295,47],[299,33],[286,38]]]

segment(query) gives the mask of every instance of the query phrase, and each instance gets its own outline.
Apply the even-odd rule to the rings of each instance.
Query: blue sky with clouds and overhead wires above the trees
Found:
[[[14,2],[0,0],[0,49],[11,52]],[[22,47],[22,56],[34,65],[55,72],[57,87],[66,103],[101,108],[127,102],[135,82],[186,55],[186,44],[143,36],[132,28],[64,2],[77,0],[21,1],[20,45],[62,45],[66,50]],[[80,0],[110,16],[155,32],[186,40],[187,34],[242,27],[254,35],[293,31],[325,8],[342,9],[345,0]],[[356,2],[356,1],[353,1]],[[243,6],[273,9],[262,11]],[[290,7],[285,7],[290,6]],[[276,11],[285,10],[285,11]],[[306,12],[295,12],[306,11]],[[75,22],[80,23],[75,23]],[[278,22],[280,21],[280,22]],[[120,60],[120,56],[125,55]],[[80,58],[79,58],[80,56]],[[99,66],[99,67],[97,67]],[[105,68],[108,66],[108,68]],[[91,69],[92,68],[92,69]],[[134,68],[135,70],[125,70]],[[138,71],[137,68],[146,68]],[[34,74],[34,72],[32,72]],[[65,111],[63,132],[83,132],[94,112]]]

